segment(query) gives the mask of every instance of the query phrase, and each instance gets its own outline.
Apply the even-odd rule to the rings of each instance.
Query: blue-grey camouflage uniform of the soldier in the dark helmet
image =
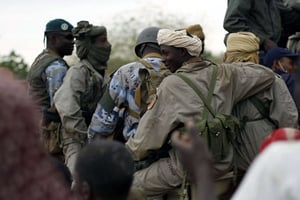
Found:
[[[143,59],[157,73],[164,67],[159,54],[151,53]],[[141,108],[135,101],[135,90],[140,83],[139,71],[145,68],[146,66],[141,62],[134,62],[122,66],[114,73],[107,88],[109,98],[104,95],[98,103],[89,126],[89,137],[92,138],[95,134],[104,136],[111,134],[116,127],[122,105],[126,105],[127,107],[125,113],[123,113],[123,136],[127,140],[130,136],[134,135],[141,115]],[[165,69],[164,76],[167,76],[169,73],[169,70]],[[110,108],[107,106],[109,103],[113,104]]]

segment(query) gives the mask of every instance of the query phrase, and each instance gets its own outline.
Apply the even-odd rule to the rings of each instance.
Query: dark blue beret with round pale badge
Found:
[[[46,24],[45,33],[47,32],[71,32],[73,29],[72,24],[64,19],[54,19]]]

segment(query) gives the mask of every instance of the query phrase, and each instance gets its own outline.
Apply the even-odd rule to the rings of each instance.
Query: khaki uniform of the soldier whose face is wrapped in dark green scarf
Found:
[[[79,150],[86,142],[87,127],[102,96],[104,78],[87,60],[71,67],[54,96],[62,120],[62,143],[65,162],[71,172]]]

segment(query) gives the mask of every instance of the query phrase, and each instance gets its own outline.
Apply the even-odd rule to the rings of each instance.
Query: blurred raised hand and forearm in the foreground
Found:
[[[174,131],[171,136],[173,147],[187,171],[191,181],[196,184],[196,199],[215,200],[213,193],[213,166],[209,149],[199,135],[193,121],[185,123],[187,133]]]

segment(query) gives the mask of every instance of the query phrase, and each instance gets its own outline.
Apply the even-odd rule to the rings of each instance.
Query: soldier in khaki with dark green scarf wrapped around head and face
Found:
[[[86,142],[91,116],[103,94],[104,74],[111,52],[104,26],[80,21],[73,35],[80,61],[67,72],[54,97],[62,120],[65,162],[72,173],[76,156]]]

